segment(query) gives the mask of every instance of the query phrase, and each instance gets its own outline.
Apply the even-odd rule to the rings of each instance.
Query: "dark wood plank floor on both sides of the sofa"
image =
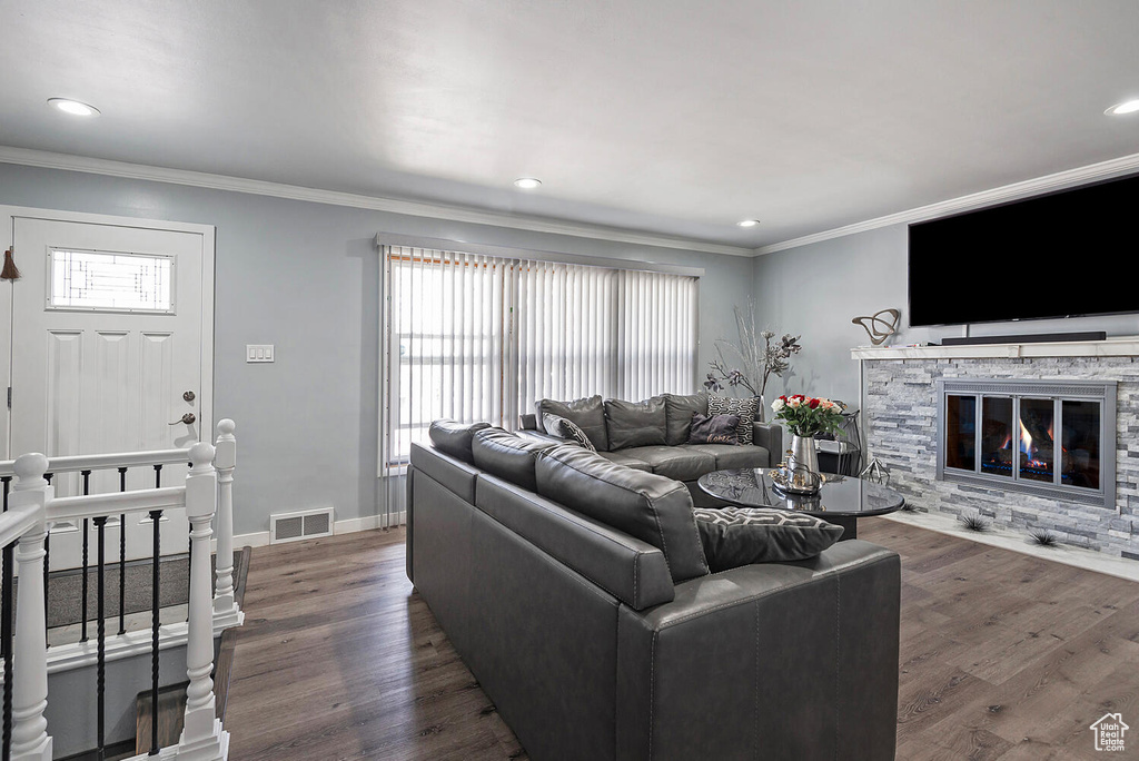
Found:
[[[1139,758],[1139,584],[893,523],[902,556],[898,758]],[[402,531],[255,549],[230,758],[525,759],[403,574]],[[1130,750],[1130,748],[1129,748]],[[1111,758],[1111,756],[1108,756]]]

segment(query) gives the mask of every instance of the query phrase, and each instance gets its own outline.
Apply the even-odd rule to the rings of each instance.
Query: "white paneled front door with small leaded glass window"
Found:
[[[22,273],[11,289],[13,456],[133,452],[211,439],[212,338],[204,334],[212,317],[203,319],[203,308],[212,304],[212,237],[153,224],[13,216]],[[185,473],[183,465],[166,466],[163,484]],[[155,485],[149,468],[132,468],[126,480],[128,489]],[[52,483],[58,496],[82,493],[77,474]],[[118,473],[92,474],[91,493],[118,489]],[[52,532],[52,568],[79,564],[77,529]],[[149,526],[128,521],[126,542],[129,557],[147,556]]]

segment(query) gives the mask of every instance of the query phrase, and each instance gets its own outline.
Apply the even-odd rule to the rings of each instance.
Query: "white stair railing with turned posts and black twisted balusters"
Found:
[[[105,664],[108,660],[107,644],[116,656],[151,652],[154,674],[157,679],[159,649],[170,645],[186,644],[186,663],[189,687],[182,735],[177,746],[151,747],[151,755],[161,751],[162,759],[185,759],[187,761],[219,761],[228,755],[229,733],[215,718],[215,695],[213,689],[213,644],[222,628],[239,625],[244,613],[236,604],[233,595],[233,529],[232,529],[232,481],[237,460],[237,440],[232,420],[222,420],[219,426],[218,449],[208,443],[194,444],[188,450],[163,452],[137,452],[129,455],[99,455],[95,457],[52,458],[39,453],[24,455],[14,463],[0,463],[0,477],[9,481],[13,476],[8,510],[0,516],[0,547],[15,545],[16,573],[16,632],[14,649],[7,668],[11,674],[10,715],[6,715],[6,734],[10,725],[10,758],[19,761],[47,761],[51,759],[52,740],[48,734],[44,709],[48,701],[48,672],[60,670],[58,661],[69,658],[73,663],[93,662],[98,669],[97,694],[101,706],[105,689]],[[60,472],[83,472],[108,467],[156,465],[162,463],[186,463],[190,468],[186,482],[180,486],[164,486],[107,494],[56,498],[46,474]],[[129,465],[125,465],[129,464]],[[7,485],[7,483],[6,483]],[[54,523],[95,522],[99,532],[100,555],[104,548],[104,529],[112,515],[149,514],[158,546],[159,518],[163,512],[185,508],[189,521],[190,586],[188,620],[161,627],[157,603],[155,603],[153,639],[144,639],[144,633],[126,632],[107,637],[105,613],[97,616],[99,636],[95,643],[79,643],[74,646],[47,646],[44,605],[44,540],[48,527]],[[218,568],[216,594],[211,592],[211,540],[214,537],[212,522],[218,522]],[[179,542],[182,547],[182,545]],[[7,554],[7,553],[6,553]],[[157,578],[157,554],[154,558]],[[99,586],[103,586],[103,565],[98,566]],[[11,590],[5,588],[5,595]],[[157,587],[153,590],[157,600]],[[6,645],[7,646],[7,645]],[[56,663],[56,650],[68,650],[69,655]],[[55,668],[52,668],[55,666]],[[7,687],[7,686],[6,686]],[[154,684],[157,695],[157,680]],[[9,713],[6,705],[6,713]],[[100,707],[99,747],[104,746],[103,718]],[[147,755],[136,756],[146,759]]]

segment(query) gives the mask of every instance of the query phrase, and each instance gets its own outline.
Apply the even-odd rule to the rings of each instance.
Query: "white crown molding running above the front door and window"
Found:
[[[444,219],[453,222],[491,224],[494,227],[505,227],[515,230],[548,232],[550,235],[568,235],[579,238],[628,243],[638,246],[679,248],[681,251],[698,251],[708,254],[723,254],[728,256],[753,256],[755,254],[753,249],[741,246],[727,246],[702,240],[630,232],[626,230],[618,230],[597,224],[579,224],[574,222],[563,222],[535,216],[515,216],[511,214],[478,211],[476,208],[465,208],[461,206],[427,204],[413,201],[400,201],[398,198],[382,198],[353,193],[339,193],[336,190],[320,190],[318,188],[305,188],[297,185],[267,182],[264,180],[249,180],[239,177],[228,177],[224,174],[191,172],[189,170],[148,166],[145,164],[130,164],[126,162],[109,161],[106,158],[71,156],[67,154],[57,154],[46,150],[32,150],[30,148],[14,148],[11,146],[0,146],[0,163],[22,164],[24,166],[41,166],[44,169],[58,169],[71,172],[87,172],[90,174],[106,174],[108,177],[148,180],[151,182],[187,185],[196,188],[247,193],[256,196],[272,196],[277,198],[289,198],[292,201],[305,201],[316,204],[330,204],[334,206],[369,208],[372,211],[407,214],[410,216],[429,216],[433,219]]]

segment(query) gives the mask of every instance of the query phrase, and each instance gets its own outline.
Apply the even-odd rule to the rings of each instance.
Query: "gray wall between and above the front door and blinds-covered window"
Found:
[[[753,276],[740,256],[15,164],[0,164],[0,204],[216,226],[214,416],[237,422],[237,533],[310,507],[377,513],[377,232],[704,268],[700,368]],[[247,343],[274,344],[276,362],[247,365]]]

